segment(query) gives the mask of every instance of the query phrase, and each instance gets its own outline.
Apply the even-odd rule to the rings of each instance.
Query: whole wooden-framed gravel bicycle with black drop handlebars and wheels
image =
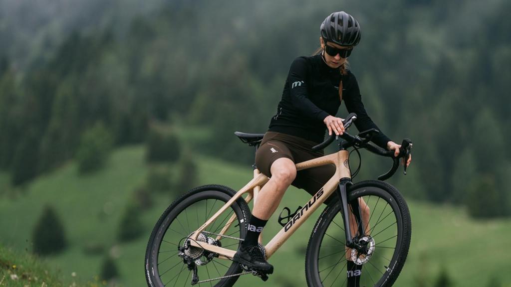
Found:
[[[310,235],[305,259],[309,286],[346,286],[346,275],[356,272],[347,270],[347,260],[363,267],[361,286],[391,286],[408,254],[408,206],[398,190],[384,180],[397,171],[400,158],[406,162],[412,143],[404,139],[400,155],[394,157],[393,151],[369,142],[378,133],[376,129],[357,136],[347,133],[355,120],[356,114],[351,113],[343,121],[344,134],[332,134],[313,147],[321,150],[337,139],[338,152],[296,164],[297,171],[334,164],[334,176],[303,207],[294,213],[286,207],[287,216],[281,212],[279,223],[283,228],[266,245],[260,238],[259,247],[270,258],[327,198],[337,196],[338,200],[321,212]],[[263,134],[236,135],[256,150],[263,138]],[[378,180],[353,183],[351,179],[360,165],[352,176],[349,148],[359,156],[358,149],[363,148],[390,157],[392,168]],[[175,200],[161,215],[149,239],[145,258],[148,286],[226,287],[246,274],[266,281],[266,274],[233,261],[233,256],[245,237],[250,218],[247,203],[257,201],[260,188],[268,180],[254,166],[253,179],[238,192],[223,185],[204,185]]]

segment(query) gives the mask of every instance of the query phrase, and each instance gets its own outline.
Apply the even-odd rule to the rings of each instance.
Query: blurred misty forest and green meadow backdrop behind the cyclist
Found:
[[[37,254],[64,285],[144,284],[161,212],[193,186],[248,182],[253,151],[234,131],[266,131],[291,62],[314,53],[340,10],[362,27],[350,64],[368,114],[413,141],[408,175],[389,180],[413,226],[396,285],[511,286],[502,0],[0,0],[0,246]],[[355,181],[390,167],[366,152],[361,164]],[[61,243],[38,243],[38,226]]]

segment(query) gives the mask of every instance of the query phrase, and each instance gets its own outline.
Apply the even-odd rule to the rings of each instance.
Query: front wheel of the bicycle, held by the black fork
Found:
[[[347,189],[349,209],[355,222],[354,241],[364,251],[345,246],[345,231],[340,202],[328,206],[311,234],[306,256],[309,286],[346,286],[348,276],[360,275],[360,286],[392,286],[408,254],[411,237],[410,213],[398,190],[383,181],[362,181]],[[355,206],[360,206],[359,211]],[[355,208],[354,208],[355,207]],[[364,226],[360,234],[359,225]],[[360,271],[348,270],[353,261]],[[357,272],[358,274],[355,274]]]

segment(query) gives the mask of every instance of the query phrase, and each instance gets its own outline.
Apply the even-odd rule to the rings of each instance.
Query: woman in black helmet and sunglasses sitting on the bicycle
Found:
[[[343,11],[335,12],[321,23],[320,33],[321,47],[316,55],[298,57],[291,64],[277,113],[255,155],[255,164],[270,180],[259,192],[245,240],[234,260],[268,274],[273,266],[257,247],[259,234],[290,184],[314,195],[333,176],[332,165],[297,172],[295,163],[324,155],[323,151],[312,151],[312,147],[323,141],[327,129],[329,135],[344,132],[342,119],[335,116],[342,100],[348,112],[357,114],[355,125],[359,131],[380,131],[373,137],[376,145],[393,150],[396,156],[401,147],[367,115],[357,80],[347,68],[347,57],[360,41],[358,21]],[[330,198],[327,204],[332,201]],[[361,266],[348,261],[347,270],[359,271],[351,273],[357,276],[347,278],[349,286],[358,286]]]

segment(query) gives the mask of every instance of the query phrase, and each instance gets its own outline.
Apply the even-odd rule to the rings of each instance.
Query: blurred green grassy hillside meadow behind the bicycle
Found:
[[[250,166],[227,163],[211,157],[197,156],[199,184],[218,183],[239,189],[251,178]],[[413,173],[413,169],[410,170]],[[144,255],[151,229],[168,206],[170,195],[156,195],[154,207],[143,215],[145,236],[119,244],[116,234],[124,207],[134,190],[147,175],[144,148],[134,146],[115,151],[106,168],[88,176],[78,176],[77,167],[69,162],[54,173],[39,177],[12,198],[0,192],[0,242],[16,250],[32,250],[32,229],[45,204],[52,204],[65,225],[68,248],[64,253],[46,258],[45,264],[60,272],[65,283],[94,280],[100,272],[105,254],[116,262],[124,286],[143,286]],[[397,175],[398,177],[401,175]],[[0,187],[8,180],[0,175]],[[399,188],[399,186],[398,186]],[[11,193],[9,193],[11,194]],[[283,206],[296,208],[307,202],[306,192],[290,188]],[[432,286],[440,269],[445,269],[454,286],[488,286],[495,277],[502,286],[511,286],[511,252],[505,248],[511,235],[511,220],[473,221],[462,208],[435,206],[409,200],[412,216],[412,242],[405,268],[396,286]],[[298,230],[271,258],[276,267],[267,285],[305,286],[305,250],[319,212]],[[265,238],[275,234],[280,225],[270,219]],[[99,254],[86,254],[90,246],[104,248]],[[76,272],[76,277],[71,274]],[[262,281],[243,276],[237,285],[255,286]],[[424,284],[421,284],[424,283]]]

